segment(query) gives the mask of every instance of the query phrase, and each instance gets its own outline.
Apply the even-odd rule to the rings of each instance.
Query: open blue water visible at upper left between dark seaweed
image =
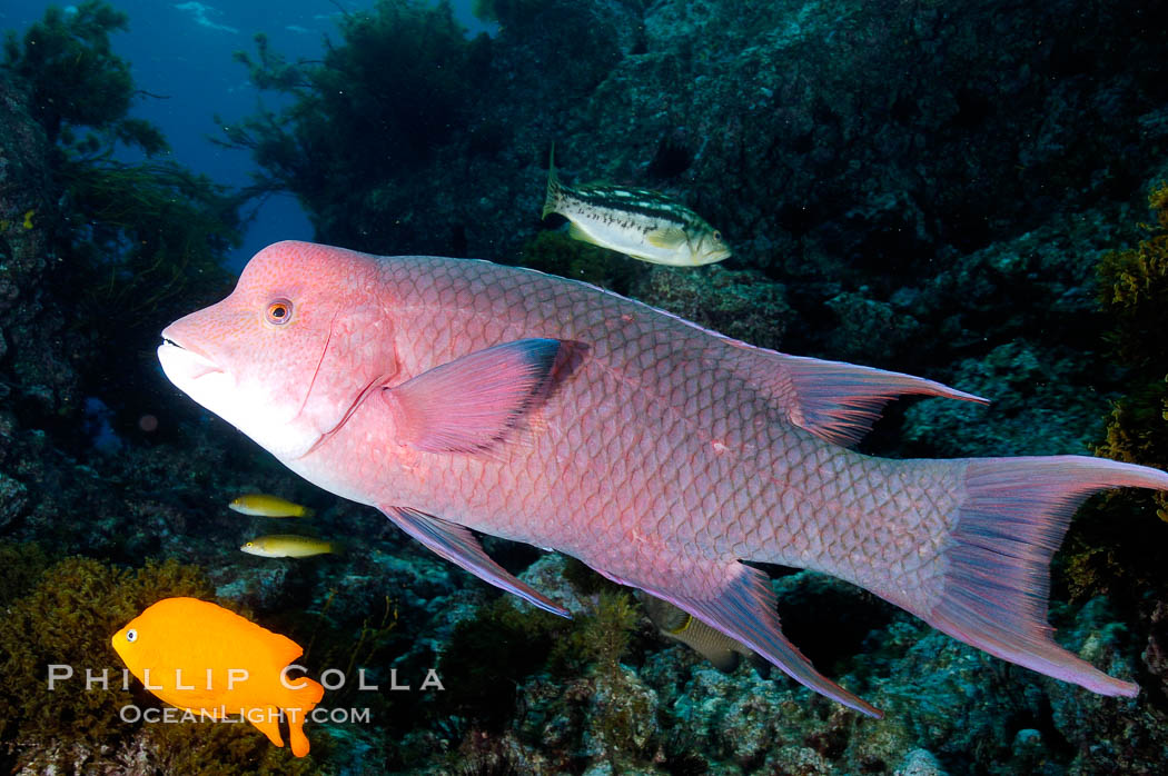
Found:
[[[50,5],[11,0],[0,7],[0,29],[23,32]],[[157,2],[125,0],[113,7],[130,15],[130,29],[113,35],[114,53],[131,64],[142,95],[131,116],[153,121],[171,145],[169,158],[231,187],[246,186],[255,170],[251,155],[214,145],[223,138],[215,116],[227,121],[253,113],[259,92],[248,71],[232,61],[236,51],[255,53],[253,36],[267,35],[272,50],[288,61],[317,60],[326,36],[338,39],[334,20],[340,7],[360,12],[371,4],[333,4],[327,0],[287,2]],[[489,32],[471,13],[470,0],[453,4],[468,34]],[[263,96],[267,107],[279,97]],[[244,243],[229,263],[241,268],[259,249],[281,239],[312,239],[312,225],[288,195],[269,197],[251,224]]]

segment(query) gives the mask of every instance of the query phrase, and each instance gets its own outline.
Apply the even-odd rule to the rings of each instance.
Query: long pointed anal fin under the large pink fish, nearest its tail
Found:
[[[786,639],[774,610],[774,593],[763,572],[734,561],[725,567],[694,569],[687,586],[690,589],[681,595],[670,590],[649,592],[742,642],[799,684],[869,716],[884,715],[815,671],[811,660]]]

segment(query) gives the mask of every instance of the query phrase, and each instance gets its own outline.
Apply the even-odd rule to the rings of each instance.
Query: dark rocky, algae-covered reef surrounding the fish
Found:
[[[319,63],[260,39],[239,58],[288,107],[230,126],[224,142],[253,149],[262,170],[244,193],[153,160],[165,139],[127,118],[133,84],[107,37],[125,18],[107,5],[49,12],[7,42],[0,764],[1161,770],[1162,498],[1091,502],[1052,572],[1061,643],[1138,681],[1135,699],[1008,665],[842,582],[771,569],[787,635],[887,712],[876,721],[749,662],[717,671],[570,559],[488,545],[572,621],[499,597],[178,397],[150,348],[229,286],[221,261],[244,197],[285,190],[321,242],[522,264],[753,344],[993,399],[895,405],[865,452],[1098,453],[1164,468],[1163,13],[1103,0],[478,5],[493,37],[465,36],[445,4],[381,0],[345,18]],[[665,191],[717,224],[734,257],[677,270],[570,240],[540,219],[552,141],[566,180]],[[145,160],[116,161],[114,142]],[[314,506],[303,530],[349,550],[239,554],[270,525],[225,511],[249,490]],[[292,761],[246,726],[125,726],[112,701],[37,694],[48,663],[116,666],[110,634],[179,592],[293,635],[310,672],[347,674],[328,705],[366,708],[369,722],[310,727],[312,758]],[[357,688],[359,667],[378,691]],[[431,669],[444,690],[422,690]]]

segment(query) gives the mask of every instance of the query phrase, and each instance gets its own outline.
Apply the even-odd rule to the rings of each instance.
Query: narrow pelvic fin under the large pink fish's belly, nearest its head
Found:
[[[493,561],[474,534],[458,523],[449,523],[403,506],[382,506],[381,511],[403,531],[452,564],[551,614],[558,614],[561,617],[571,616],[568,609]]]

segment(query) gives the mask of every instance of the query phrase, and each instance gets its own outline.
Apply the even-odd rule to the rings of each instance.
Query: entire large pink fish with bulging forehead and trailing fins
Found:
[[[832,574],[1013,663],[1139,691],[1055,643],[1048,564],[1089,494],[1168,490],[1168,474],[849,449],[896,396],[968,393],[529,270],[294,242],[162,338],[167,377],[293,471],[550,611],[566,616],[471,530],[573,555],[875,716],[783,636],[766,575],[741,561]]]

